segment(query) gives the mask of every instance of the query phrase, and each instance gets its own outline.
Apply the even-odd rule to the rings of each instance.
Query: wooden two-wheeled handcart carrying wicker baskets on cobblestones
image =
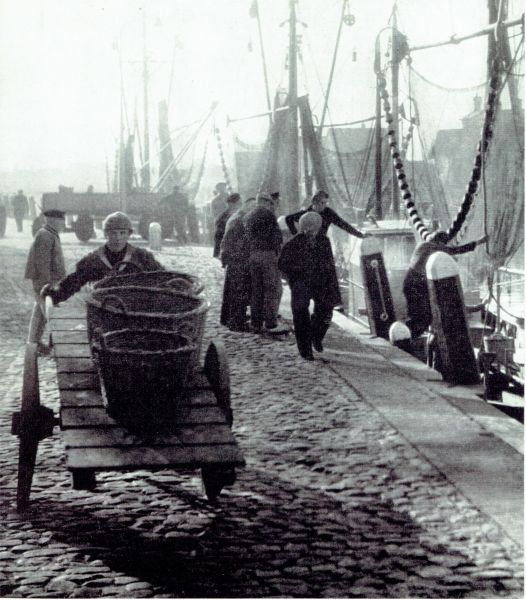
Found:
[[[203,368],[184,388],[176,418],[152,414],[146,430],[130,430],[104,406],[91,358],[81,307],[58,306],[50,315],[57,366],[60,414],[40,404],[36,344],[28,344],[21,411],[12,433],[20,438],[17,508],[28,506],[38,443],[59,425],[73,488],[93,490],[97,471],[201,469],[207,498],[214,502],[245,465],[231,431],[228,363],[220,343],[208,346]]]

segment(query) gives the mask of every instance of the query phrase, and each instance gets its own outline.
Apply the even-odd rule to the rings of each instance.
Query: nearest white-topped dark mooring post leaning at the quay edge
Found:
[[[427,261],[426,275],[442,377],[449,383],[479,383],[457,263],[449,254],[435,252]]]

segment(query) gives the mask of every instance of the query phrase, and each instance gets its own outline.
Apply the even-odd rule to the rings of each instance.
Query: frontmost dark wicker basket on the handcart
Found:
[[[187,337],[157,329],[96,330],[91,348],[111,416],[168,410],[184,397],[196,350]]]

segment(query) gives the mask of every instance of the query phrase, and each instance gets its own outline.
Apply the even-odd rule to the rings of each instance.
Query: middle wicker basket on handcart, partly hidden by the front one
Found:
[[[195,346],[192,368],[199,364],[208,302],[167,288],[122,286],[93,290],[86,300],[88,338],[94,331],[159,329],[178,333]]]

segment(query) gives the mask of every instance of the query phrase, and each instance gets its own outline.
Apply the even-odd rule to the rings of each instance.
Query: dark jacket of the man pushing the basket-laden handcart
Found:
[[[118,263],[133,263],[142,271],[161,271],[164,267],[155,260],[154,255],[143,248],[136,248],[128,244],[122,252],[110,252],[106,245],[81,258],[75,271],[65,277],[53,287],[50,296],[54,303],[63,302],[91,281],[98,281],[114,272]],[[136,272],[137,269],[127,269],[123,265],[119,273]]]

